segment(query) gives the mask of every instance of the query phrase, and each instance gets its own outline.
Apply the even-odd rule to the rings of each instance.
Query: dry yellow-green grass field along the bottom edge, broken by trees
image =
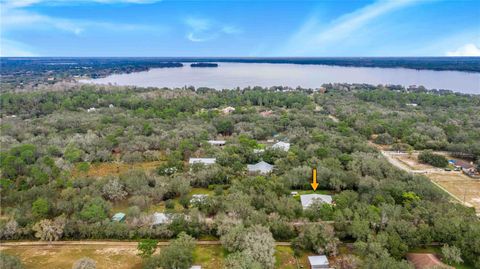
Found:
[[[26,269],[64,269],[82,258],[90,257],[97,262],[97,268],[139,269],[141,258],[136,255],[136,242],[95,242],[82,241],[82,244],[16,245],[0,246],[0,250],[20,257]],[[161,244],[167,242],[161,242]],[[194,252],[194,264],[205,269],[223,268],[228,253],[217,244],[197,245]],[[159,247],[158,251],[161,251]],[[275,252],[275,268],[296,269],[297,260],[290,246],[279,245]],[[307,254],[298,259],[298,265],[308,267]]]

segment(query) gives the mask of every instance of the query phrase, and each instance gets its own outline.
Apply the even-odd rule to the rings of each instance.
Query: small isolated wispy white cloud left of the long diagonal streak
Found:
[[[233,35],[241,33],[241,29],[233,26],[215,22],[205,18],[189,17],[184,20],[188,31],[185,37],[192,42],[205,42],[221,35]]]

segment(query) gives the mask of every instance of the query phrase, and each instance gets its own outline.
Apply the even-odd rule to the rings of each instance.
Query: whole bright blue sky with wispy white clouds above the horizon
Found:
[[[2,56],[480,56],[480,1],[0,0]]]

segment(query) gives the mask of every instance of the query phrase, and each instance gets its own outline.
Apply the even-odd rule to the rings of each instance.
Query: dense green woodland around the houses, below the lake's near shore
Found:
[[[155,241],[142,241],[145,268],[188,268],[204,237],[221,241],[226,268],[274,268],[275,241],[291,242],[298,256],[335,256],[336,268],[413,268],[406,253],[439,245],[450,264],[480,268],[475,211],[369,144],[381,137],[390,147],[455,152],[478,166],[479,96],[340,84],[322,91],[73,85],[3,93],[1,114],[2,240],[176,238],[153,255]],[[216,162],[189,165],[192,157]],[[89,176],[99,164],[153,161],[152,171]],[[273,172],[247,173],[260,161]],[[291,192],[311,189],[312,168],[317,193],[334,203],[303,209]],[[208,196],[192,199],[199,191]],[[113,221],[118,212],[125,218]],[[171,219],[155,225],[153,212]],[[342,242],[352,244],[348,253]]]

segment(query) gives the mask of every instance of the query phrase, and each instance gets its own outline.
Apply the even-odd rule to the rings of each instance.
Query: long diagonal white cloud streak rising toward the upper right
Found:
[[[356,31],[373,23],[379,17],[418,2],[416,0],[380,0],[323,24],[319,22],[318,16],[311,16],[291,36],[286,46],[280,49],[280,54],[311,55],[326,46],[334,47],[338,42],[348,39]]]

